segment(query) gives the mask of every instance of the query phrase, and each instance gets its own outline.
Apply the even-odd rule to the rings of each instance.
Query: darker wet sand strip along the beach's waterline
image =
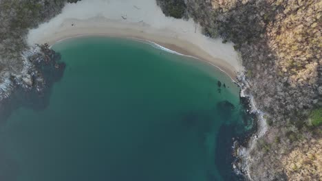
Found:
[[[63,26],[64,29],[58,29],[57,32],[55,32],[55,34],[52,34],[50,36],[44,36],[43,38],[37,40],[36,43],[47,43],[48,45],[54,45],[55,43],[61,42],[63,40],[90,36],[127,38],[130,40],[137,40],[144,43],[153,43],[155,45],[159,45],[161,47],[174,51],[172,53],[178,53],[181,56],[187,56],[211,64],[211,66],[216,67],[217,69],[219,69],[219,71],[222,71],[226,75],[228,75],[233,80],[233,82],[237,82],[237,74],[243,70],[242,67],[238,64],[238,60],[233,62],[231,60],[229,61],[227,59],[224,60],[223,58],[218,58],[219,56],[215,57],[215,55],[210,55],[208,52],[206,52],[204,50],[204,47],[194,45],[193,43],[191,43],[191,41],[193,41],[194,38],[191,38],[191,40],[189,40],[189,38],[187,38],[186,40],[182,40],[183,38],[164,36],[165,34],[169,33],[167,32],[167,30],[165,30],[164,32],[159,32],[159,30],[152,29],[152,33],[144,32],[143,30],[136,29],[143,29],[144,26],[133,26],[128,25],[127,23],[125,23],[125,27],[118,28],[117,22],[114,22],[116,23],[116,27],[113,27],[114,25],[112,22],[109,23],[110,27],[92,28],[87,27],[87,25],[90,24],[88,21],[90,20],[85,20],[85,27]],[[211,42],[212,39],[208,39]]]

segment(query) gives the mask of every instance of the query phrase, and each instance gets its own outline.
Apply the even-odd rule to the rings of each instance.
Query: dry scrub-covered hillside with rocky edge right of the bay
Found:
[[[240,83],[264,112],[260,124],[267,130],[237,149],[241,160],[235,167],[250,180],[321,180],[322,2],[158,4],[168,16],[192,17],[205,35],[231,41],[241,53],[246,72]]]

